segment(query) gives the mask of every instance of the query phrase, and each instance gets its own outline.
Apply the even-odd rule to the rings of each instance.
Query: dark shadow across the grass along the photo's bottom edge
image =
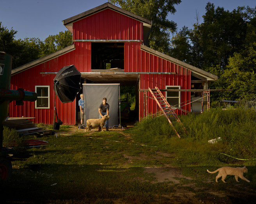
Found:
[[[199,166],[190,167],[190,170],[196,172],[196,168],[213,170],[217,167]],[[256,167],[248,166],[248,169],[254,172]],[[32,171],[24,166],[14,169],[12,178],[0,183],[1,203],[113,203],[118,200],[125,203],[171,203],[177,189],[190,191],[194,201],[255,201],[256,194],[250,190],[253,187],[249,183],[241,180],[236,183],[234,176],[226,178],[228,183],[216,183],[216,174],[202,173],[203,180],[180,180],[180,184],[174,185],[151,182],[155,175],[145,173],[143,167],[41,164],[41,169]],[[253,176],[248,175],[247,178]]]

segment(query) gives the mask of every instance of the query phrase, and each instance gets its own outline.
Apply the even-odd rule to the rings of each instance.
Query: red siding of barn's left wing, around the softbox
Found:
[[[51,59],[28,70],[22,71],[11,77],[11,89],[23,88],[26,91],[36,91],[36,85],[50,86],[50,109],[36,109],[35,102],[25,101],[23,106],[14,106],[15,101],[10,103],[10,117],[34,117],[35,123],[52,124],[54,116],[54,91],[53,78],[55,74],[40,74],[40,72],[57,72],[63,66],[75,65],[80,72],[91,71],[91,43],[76,42],[76,49],[62,56]],[[29,78],[28,78],[29,77]],[[29,82],[29,83],[28,83]],[[75,101],[62,103],[56,98],[56,107],[59,119],[64,124],[75,124]]]

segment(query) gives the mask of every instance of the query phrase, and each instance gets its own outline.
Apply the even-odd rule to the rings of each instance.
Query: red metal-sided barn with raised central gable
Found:
[[[139,89],[207,89],[217,76],[146,47],[152,22],[110,3],[104,3],[63,21],[73,34],[73,45],[12,70],[11,89],[35,91],[38,99],[23,106],[10,104],[10,117],[34,117],[33,122],[52,124],[54,116],[53,78],[63,67],[75,65],[81,83],[118,83],[135,86],[137,116],[144,115],[143,92]],[[191,91],[164,96],[170,103],[191,111]],[[77,99],[56,101],[64,124],[76,124]],[[156,101],[148,100],[148,113],[156,113]]]

